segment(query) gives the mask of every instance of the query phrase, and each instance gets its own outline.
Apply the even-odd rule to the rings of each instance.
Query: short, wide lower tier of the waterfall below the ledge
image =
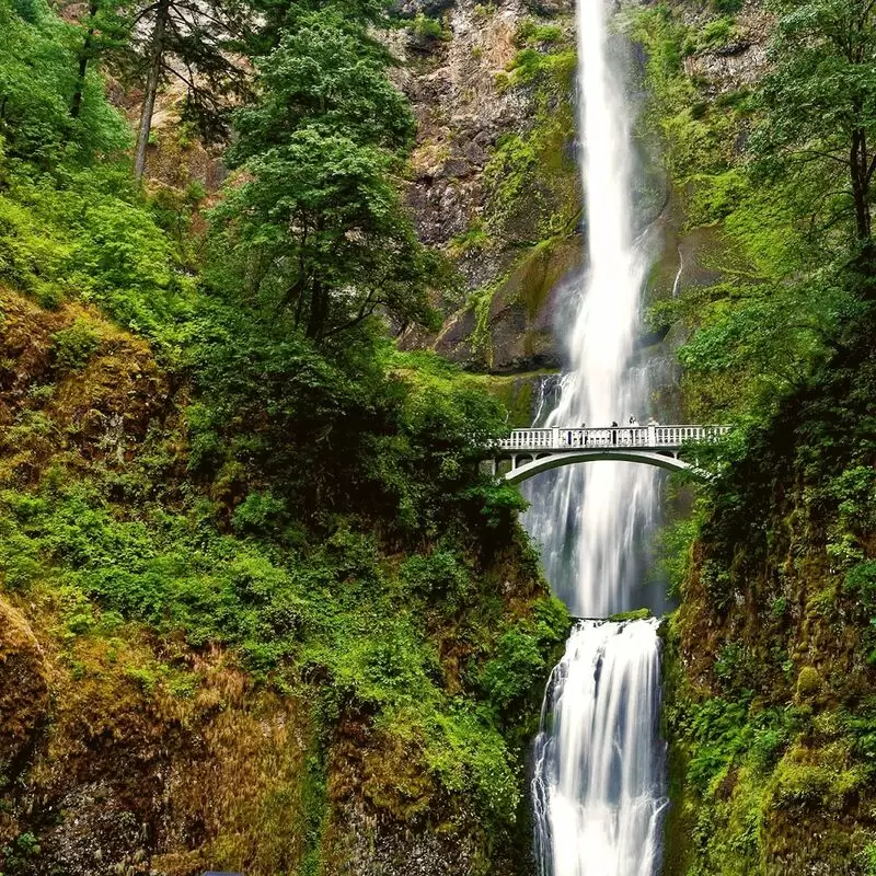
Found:
[[[656,621],[579,623],[554,669],[535,740],[540,876],[652,876],[664,748]]]

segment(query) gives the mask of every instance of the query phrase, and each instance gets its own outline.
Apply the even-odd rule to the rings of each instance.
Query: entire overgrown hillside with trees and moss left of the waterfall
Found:
[[[568,620],[479,474],[505,412],[387,328],[454,280],[383,13],[251,13],[234,112],[182,110],[235,131],[208,201],[105,96],[161,4],[0,2],[0,872],[526,872]]]

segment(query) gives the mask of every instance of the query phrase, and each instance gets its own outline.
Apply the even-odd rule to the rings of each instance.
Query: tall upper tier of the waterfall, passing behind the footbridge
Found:
[[[587,268],[570,291],[575,316],[560,326],[569,367],[546,426],[624,425],[650,413],[646,370],[633,358],[647,235],[634,235],[635,161],[622,58],[608,34],[608,4],[578,0],[578,118],[583,148]],[[662,598],[647,596],[648,533],[659,474],[625,463],[596,462],[545,475],[528,487],[525,522],[542,545],[548,579],[578,616],[607,616]],[[632,585],[631,583],[636,583]]]

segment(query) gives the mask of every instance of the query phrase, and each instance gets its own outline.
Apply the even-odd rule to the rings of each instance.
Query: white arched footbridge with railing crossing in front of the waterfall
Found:
[[[690,471],[704,476],[695,461],[682,459],[684,445],[716,441],[729,426],[607,426],[595,429],[515,429],[496,445],[491,460],[493,474],[510,460],[503,477],[519,484],[541,472],[578,462],[614,460],[656,465],[670,471]]]

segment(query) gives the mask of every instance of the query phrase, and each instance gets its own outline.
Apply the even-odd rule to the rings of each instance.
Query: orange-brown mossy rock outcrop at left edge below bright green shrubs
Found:
[[[3,287],[0,314],[0,482],[35,480],[64,450],[124,462],[165,411],[149,344],[78,302],[47,311]]]

